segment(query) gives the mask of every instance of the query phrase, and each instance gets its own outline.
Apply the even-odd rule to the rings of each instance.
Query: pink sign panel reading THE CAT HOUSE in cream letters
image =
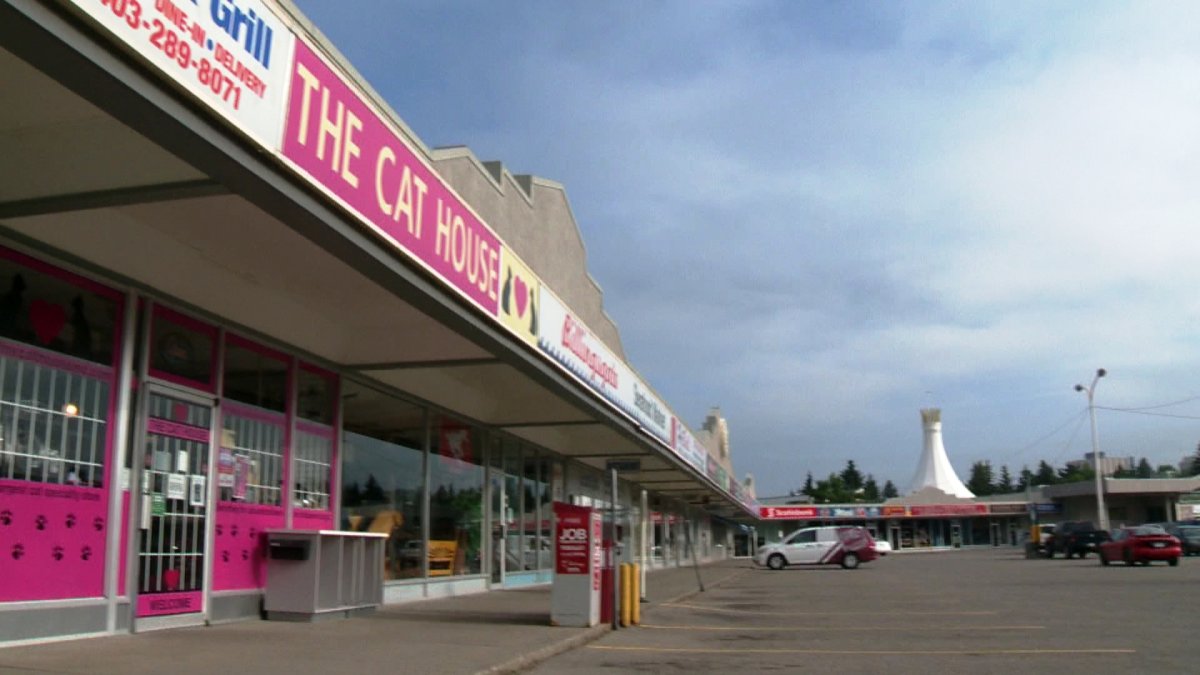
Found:
[[[498,315],[499,238],[300,41],[282,151],[394,245]]]

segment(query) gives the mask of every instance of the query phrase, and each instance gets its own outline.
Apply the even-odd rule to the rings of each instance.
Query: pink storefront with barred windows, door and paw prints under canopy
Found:
[[[7,247],[0,280],[0,603],[257,605],[264,531],[334,525],[336,376]]]

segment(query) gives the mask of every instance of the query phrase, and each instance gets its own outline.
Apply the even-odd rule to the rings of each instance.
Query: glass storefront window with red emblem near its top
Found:
[[[482,569],[484,467],[479,430],[437,416],[430,453],[430,577]]]

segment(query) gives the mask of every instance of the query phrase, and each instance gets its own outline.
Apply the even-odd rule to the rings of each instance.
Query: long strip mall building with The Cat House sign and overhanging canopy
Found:
[[[0,0],[0,640],[260,614],[264,531],[385,602],[545,583],[757,504],[626,363],[565,192],[427,149],[289,4]],[[652,555],[653,552],[653,555]]]

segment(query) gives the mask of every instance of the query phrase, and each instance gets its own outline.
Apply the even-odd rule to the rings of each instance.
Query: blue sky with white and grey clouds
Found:
[[[904,490],[923,407],[964,480],[1061,466],[1097,368],[1103,450],[1200,443],[1200,5],[296,4],[426,144],[566,186],[626,356],[760,496]]]

